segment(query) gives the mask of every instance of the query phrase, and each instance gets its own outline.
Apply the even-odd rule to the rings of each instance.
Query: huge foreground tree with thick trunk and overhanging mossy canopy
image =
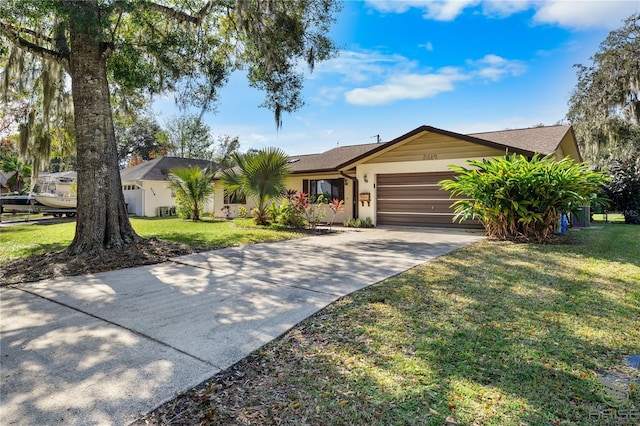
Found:
[[[22,51],[71,80],[78,219],[66,254],[99,258],[142,241],[121,189],[110,89],[122,98],[170,91],[204,111],[229,72],[246,68],[279,126],[302,105],[299,62],[313,67],[335,52],[326,34],[336,9],[333,0],[5,2],[0,53]]]

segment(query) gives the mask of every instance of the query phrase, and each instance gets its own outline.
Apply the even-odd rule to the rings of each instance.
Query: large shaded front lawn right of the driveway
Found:
[[[634,424],[637,385],[625,423],[598,373],[640,377],[623,362],[640,354],[640,227],[569,238],[480,242],[345,297],[159,422]]]

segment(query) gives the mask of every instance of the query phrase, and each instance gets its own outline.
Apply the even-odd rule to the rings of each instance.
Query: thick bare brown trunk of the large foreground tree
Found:
[[[93,2],[78,7],[87,10],[82,22],[70,25],[78,219],[67,253],[95,255],[125,249],[140,237],[131,227],[124,203],[107,82],[108,52],[100,38],[98,7]]]

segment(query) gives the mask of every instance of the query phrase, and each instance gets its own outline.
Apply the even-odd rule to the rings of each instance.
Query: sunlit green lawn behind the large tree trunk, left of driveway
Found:
[[[60,251],[73,240],[75,222],[7,226],[0,229],[0,265],[21,257]],[[253,226],[251,219],[233,222],[179,218],[131,218],[136,232],[145,238],[183,243],[198,249],[281,241],[301,234]]]

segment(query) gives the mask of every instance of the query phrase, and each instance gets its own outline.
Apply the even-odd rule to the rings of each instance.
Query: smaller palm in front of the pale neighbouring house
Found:
[[[208,169],[177,167],[169,173],[169,187],[176,191],[176,199],[187,205],[188,218],[200,220],[203,204],[213,194],[215,174]]]

